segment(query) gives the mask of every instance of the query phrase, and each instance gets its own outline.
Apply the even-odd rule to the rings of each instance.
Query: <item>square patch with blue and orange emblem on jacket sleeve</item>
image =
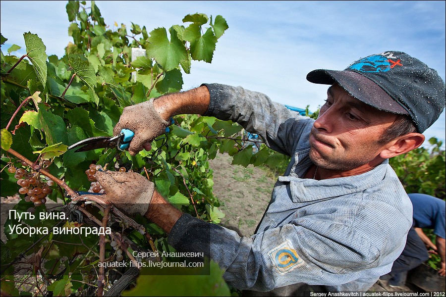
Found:
[[[280,274],[290,272],[305,263],[289,240],[273,248],[268,254]]]

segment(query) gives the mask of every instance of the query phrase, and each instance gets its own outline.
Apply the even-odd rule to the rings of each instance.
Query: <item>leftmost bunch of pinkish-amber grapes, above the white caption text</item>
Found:
[[[22,165],[26,166],[27,164],[22,162]],[[9,166],[8,172],[14,173],[17,185],[21,187],[18,191],[19,194],[25,195],[26,202],[34,202],[34,206],[45,204],[47,196],[53,193],[51,187],[54,185],[54,181],[40,175],[38,172],[29,172],[24,168],[16,168],[15,166]]]

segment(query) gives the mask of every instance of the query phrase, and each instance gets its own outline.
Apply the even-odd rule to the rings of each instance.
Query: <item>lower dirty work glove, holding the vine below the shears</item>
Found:
[[[129,215],[144,216],[149,209],[154,183],[135,172],[96,171],[96,180],[107,199]]]

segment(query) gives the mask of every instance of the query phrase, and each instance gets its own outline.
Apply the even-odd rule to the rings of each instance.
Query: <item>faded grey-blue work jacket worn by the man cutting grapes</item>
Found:
[[[268,147],[290,155],[291,162],[274,186],[256,234],[241,238],[184,214],[169,244],[207,250],[224,269],[226,282],[240,290],[306,284],[330,292],[366,291],[390,272],[412,226],[412,204],[388,160],[356,176],[303,179],[312,165],[308,137],[314,119],[262,93],[206,86],[211,103],[205,115],[241,124]]]

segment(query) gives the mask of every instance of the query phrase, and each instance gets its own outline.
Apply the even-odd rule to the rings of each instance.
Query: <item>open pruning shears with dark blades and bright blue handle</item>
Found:
[[[122,129],[121,133],[116,136],[96,136],[81,140],[71,146],[68,149],[78,148],[78,151],[87,151],[97,148],[117,148],[124,150],[129,147],[131,140],[135,136],[135,133],[129,129]]]

